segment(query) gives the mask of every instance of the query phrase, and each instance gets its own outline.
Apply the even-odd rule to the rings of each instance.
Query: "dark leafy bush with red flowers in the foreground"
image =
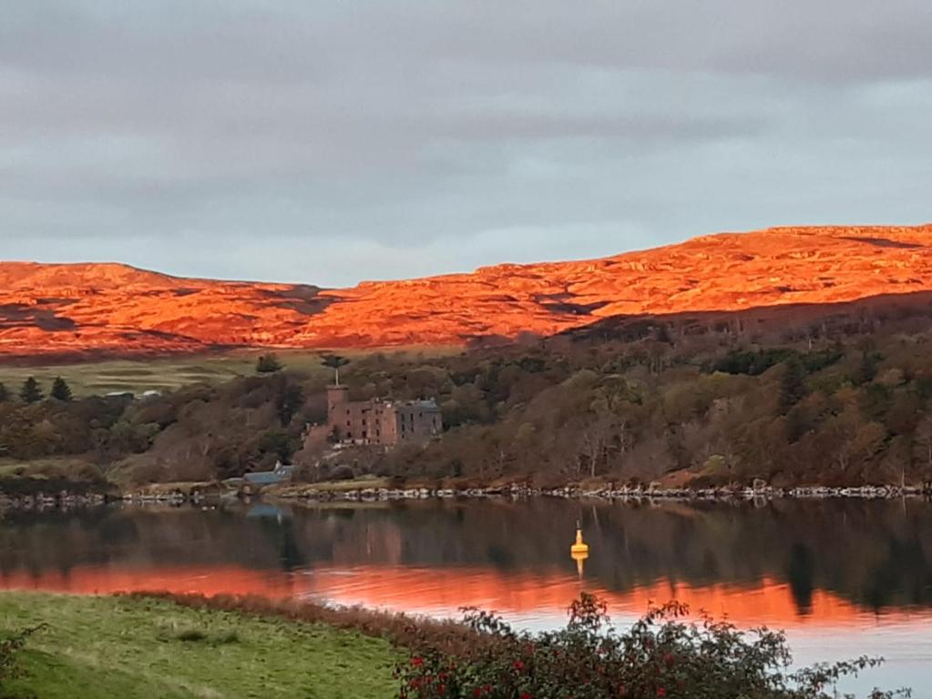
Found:
[[[469,610],[481,637],[467,652],[417,651],[399,665],[400,699],[831,699],[834,683],[880,661],[817,665],[790,672],[781,633],[749,633],[704,617],[687,623],[684,606],[651,609],[624,633],[608,626],[606,606],[583,593],[563,630],[516,632],[499,617]],[[871,699],[908,696],[875,692]]]

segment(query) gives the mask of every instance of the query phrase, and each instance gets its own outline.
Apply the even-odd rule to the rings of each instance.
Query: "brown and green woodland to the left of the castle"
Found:
[[[300,448],[303,425],[321,417],[322,403],[306,397],[306,383],[281,372],[143,399],[7,396],[0,402],[0,456],[40,462],[40,471],[55,476],[62,476],[57,457],[72,457],[70,475],[82,478],[240,476],[287,461]]]

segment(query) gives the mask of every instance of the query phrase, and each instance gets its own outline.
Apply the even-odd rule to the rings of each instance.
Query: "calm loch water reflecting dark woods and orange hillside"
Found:
[[[591,558],[569,558],[582,519]],[[580,590],[618,624],[678,599],[788,632],[797,659],[887,658],[855,685],[932,697],[932,504],[397,503],[102,508],[0,523],[0,587],[259,593],[562,625]]]

